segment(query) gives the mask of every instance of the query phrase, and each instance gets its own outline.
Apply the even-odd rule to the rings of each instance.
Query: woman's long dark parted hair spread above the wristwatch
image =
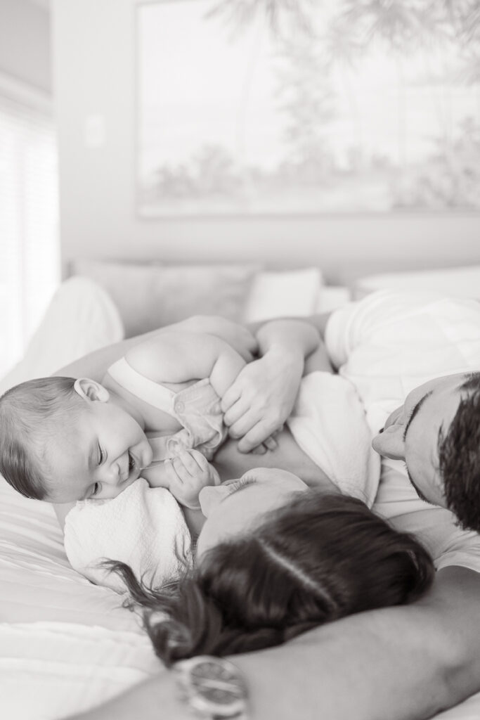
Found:
[[[140,606],[166,665],[197,654],[278,645],[323,623],[425,593],[433,562],[417,540],[361,500],[294,493],[255,530],[210,549],[194,570],[155,590],[111,562]],[[158,613],[161,613],[160,616]]]

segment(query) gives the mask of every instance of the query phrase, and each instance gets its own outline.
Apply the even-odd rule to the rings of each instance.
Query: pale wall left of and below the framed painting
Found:
[[[365,269],[480,264],[480,217],[135,216],[135,0],[53,0],[64,264],[76,256],[317,264]],[[104,143],[86,147],[89,117]],[[91,138],[90,138],[91,139]]]

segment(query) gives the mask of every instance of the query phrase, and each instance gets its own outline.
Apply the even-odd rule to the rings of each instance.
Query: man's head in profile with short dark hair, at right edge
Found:
[[[373,438],[373,449],[405,462],[422,500],[480,531],[480,372],[416,387]]]

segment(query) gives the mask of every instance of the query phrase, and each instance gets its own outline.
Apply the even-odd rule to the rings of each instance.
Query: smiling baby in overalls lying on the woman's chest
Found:
[[[103,382],[47,377],[0,399],[0,472],[50,503],[114,498],[140,474],[186,508],[219,476],[220,402],[245,366],[207,333],[166,331],[132,348]]]

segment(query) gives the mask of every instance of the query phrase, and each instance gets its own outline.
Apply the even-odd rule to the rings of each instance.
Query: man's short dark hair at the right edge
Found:
[[[461,398],[446,433],[438,433],[440,475],[448,508],[464,529],[480,532],[480,372],[461,385]]]

